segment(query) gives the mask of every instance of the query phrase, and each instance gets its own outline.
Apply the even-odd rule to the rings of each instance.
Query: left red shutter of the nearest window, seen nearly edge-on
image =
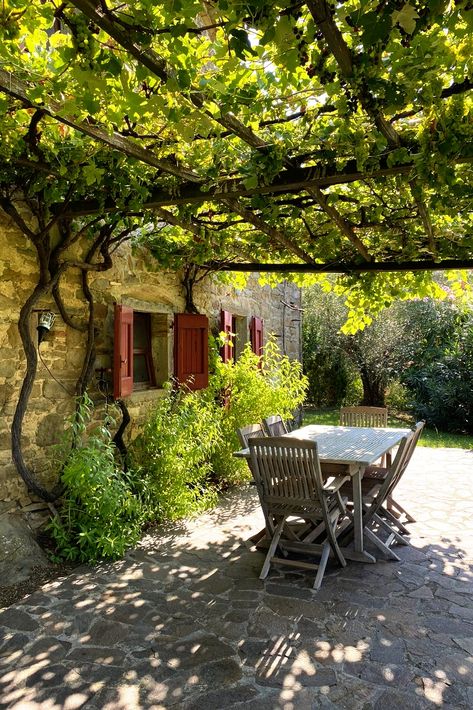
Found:
[[[133,392],[133,309],[115,304],[113,350],[113,397]]]

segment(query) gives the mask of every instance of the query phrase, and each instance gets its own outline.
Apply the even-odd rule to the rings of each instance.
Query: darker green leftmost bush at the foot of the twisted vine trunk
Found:
[[[121,557],[139,539],[143,521],[130,476],[116,462],[108,422],[87,431],[92,412],[84,395],[68,430],[73,448],[62,466],[62,506],[49,525],[57,557],[68,560]]]

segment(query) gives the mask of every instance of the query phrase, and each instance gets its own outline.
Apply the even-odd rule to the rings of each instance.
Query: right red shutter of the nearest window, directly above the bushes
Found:
[[[174,375],[191,390],[209,383],[209,321],[195,313],[176,313]]]

